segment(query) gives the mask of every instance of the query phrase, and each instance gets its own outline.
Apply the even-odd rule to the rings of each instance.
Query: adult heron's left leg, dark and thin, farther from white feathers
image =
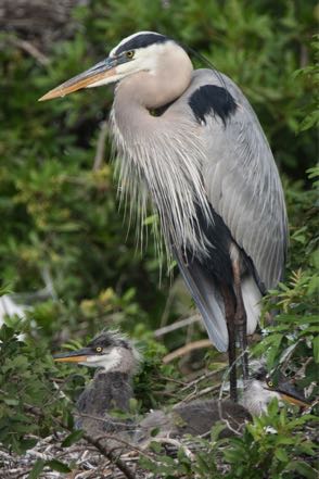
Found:
[[[230,383],[230,399],[238,401],[237,395],[237,367],[235,367],[235,325],[234,325],[234,298],[232,291],[227,285],[221,287],[221,295],[225,304],[225,316],[228,329],[228,361],[229,361],[229,383]]]

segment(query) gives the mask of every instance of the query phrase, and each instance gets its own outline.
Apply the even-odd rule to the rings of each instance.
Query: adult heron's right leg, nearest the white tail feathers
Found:
[[[235,294],[234,326],[238,331],[240,348],[242,350],[242,367],[244,381],[248,378],[248,352],[247,352],[247,315],[243,301],[240,264],[235,260],[232,262],[233,289]]]

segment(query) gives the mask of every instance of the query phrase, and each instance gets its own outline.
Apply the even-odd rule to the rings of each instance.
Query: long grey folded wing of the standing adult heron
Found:
[[[199,71],[199,77],[201,72],[207,71]],[[210,98],[212,108],[202,122],[207,151],[203,165],[205,189],[214,210],[269,289],[282,278],[288,244],[278,169],[258,118],[244,94],[224,75],[220,81],[209,72],[209,78],[208,85],[216,86],[219,81],[218,87],[225,88],[227,94]],[[206,83],[204,78],[204,85]],[[232,110],[226,103],[230,99],[228,94],[235,103]],[[207,101],[209,98],[206,98],[206,111]]]

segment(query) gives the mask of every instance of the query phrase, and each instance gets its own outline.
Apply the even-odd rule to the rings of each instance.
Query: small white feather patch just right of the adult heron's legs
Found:
[[[261,312],[261,293],[253,278],[248,276],[242,280],[242,294],[247,315],[247,335],[253,335],[257,327]]]

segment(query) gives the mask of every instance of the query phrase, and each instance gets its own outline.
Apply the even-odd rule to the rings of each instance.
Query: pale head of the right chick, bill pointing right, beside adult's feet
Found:
[[[254,373],[244,390],[243,405],[251,414],[259,415],[267,412],[268,404],[275,398],[299,407],[309,406],[304,394],[282,374],[270,376],[264,368]]]

